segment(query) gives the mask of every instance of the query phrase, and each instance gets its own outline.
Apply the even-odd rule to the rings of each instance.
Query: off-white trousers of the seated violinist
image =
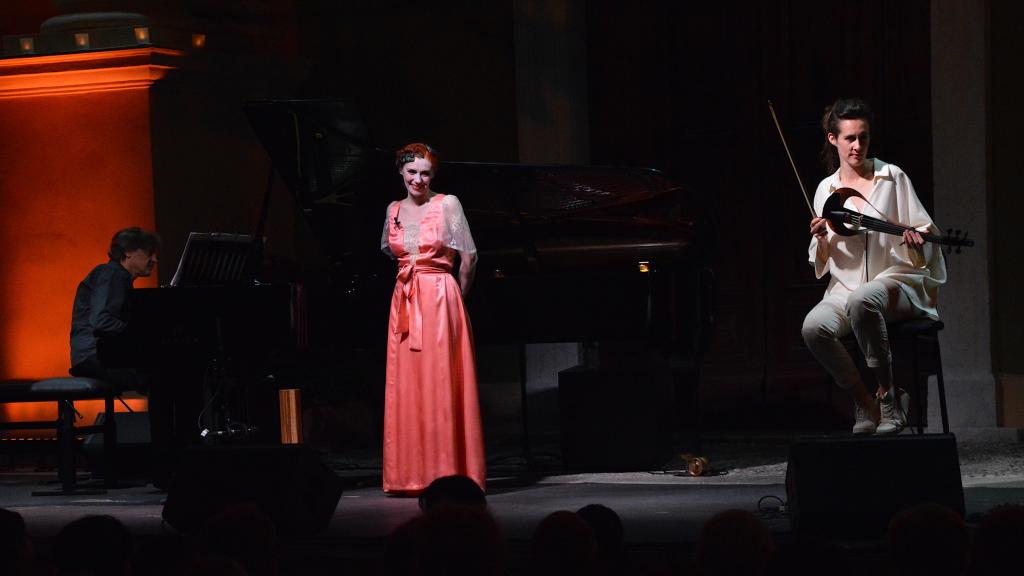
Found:
[[[910,303],[899,282],[881,278],[862,284],[847,297],[825,296],[807,313],[801,332],[811,354],[836,383],[849,389],[860,382],[860,374],[839,340],[852,331],[864,363],[871,368],[879,385],[888,389],[892,383],[892,354],[886,322],[924,316]]]

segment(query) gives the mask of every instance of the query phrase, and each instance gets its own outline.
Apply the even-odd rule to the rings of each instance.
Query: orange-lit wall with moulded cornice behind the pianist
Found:
[[[114,232],[154,229],[150,86],[170,69],[155,55],[175,54],[0,60],[0,379],[67,375],[78,283]],[[91,422],[101,403],[81,404]],[[0,405],[0,420],[55,415],[52,403]]]

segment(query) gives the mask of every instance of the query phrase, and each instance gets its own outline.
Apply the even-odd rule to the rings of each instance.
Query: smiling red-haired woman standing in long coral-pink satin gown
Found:
[[[398,260],[388,321],[384,491],[418,494],[452,475],[482,489],[476,362],[463,304],[476,246],[459,199],[430,189],[438,165],[433,149],[409,145],[396,165],[406,198],[388,206],[381,239],[384,252]]]

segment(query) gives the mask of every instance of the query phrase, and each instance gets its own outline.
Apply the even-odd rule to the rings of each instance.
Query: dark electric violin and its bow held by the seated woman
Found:
[[[768,111],[771,112],[771,118],[775,121],[775,129],[778,130],[778,137],[782,140],[782,147],[785,149],[785,155],[790,159],[790,165],[793,167],[793,173],[796,174],[797,182],[800,184],[800,190],[804,193],[804,200],[807,202],[807,209],[811,211],[811,217],[816,218],[818,215],[814,212],[814,206],[811,204],[811,197],[807,194],[807,189],[804,188],[804,181],[800,178],[800,171],[797,170],[797,164],[793,161],[793,154],[790,153],[790,147],[785,143],[785,136],[782,134],[782,126],[778,123],[778,117],[775,116],[775,108],[772,106],[771,100],[768,100]],[[823,212],[821,217],[827,220],[828,228],[840,236],[855,236],[860,234],[862,229],[881,232],[884,234],[892,234],[895,236],[903,236],[904,232],[913,231],[920,234],[921,238],[926,242],[940,244],[946,247],[947,251],[952,250],[955,247],[957,254],[959,253],[962,247],[967,246],[970,248],[971,246],[974,246],[974,241],[968,240],[966,231],[961,232],[959,230],[953,231],[953,229],[949,229],[945,236],[937,236],[935,234],[919,232],[916,229],[905,227],[903,224],[881,220],[879,218],[864,215],[856,210],[845,208],[843,205],[846,204],[846,201],[850,198],[860,198],[866,202],[864,196],[852,188],[840,188],[833,191],[828,199],[825,200],[825,205],[821,208],[821,211]],[[848,228],[849,225],[854,228]]]

